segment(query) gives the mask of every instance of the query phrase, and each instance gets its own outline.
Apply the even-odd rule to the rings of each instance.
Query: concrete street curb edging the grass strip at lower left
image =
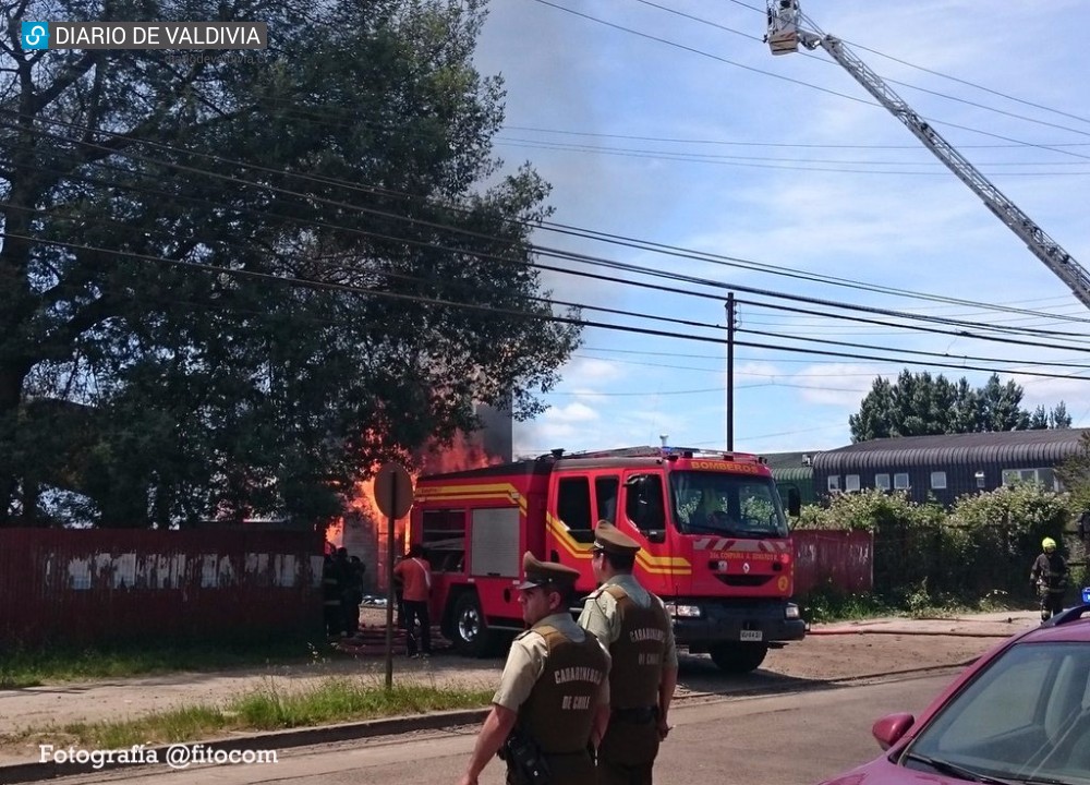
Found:
[[[47,761],[45,763],[12,763],[0,765],[0,785],[55,780],[57,777],[75,776],[77,774],[98,774],[118,769],[146,769],[152,765],[169,766],[168,770],[175,768],[186,769],[189,768],[187,763],[185,765],[171,766],[166,762],[168,750],[179,747],[185,747],[191,751],[215,749],[217,752],[280,750],[292,747],[332,744],[335,741],[350,741],[352,739],[371,738],[373,736],[391,736],[412,733],[414,730],[438,730],[456,725],[481,723],[488,715],[488,709],[464,709],[435,712],[432,714],[366,720],[340,725],[319,725],[313,728],[291,728],[288,730],[270,730],[257,734],[240,734],[227,738],[209,739],[207,741],[161,745],[144,748],[140,754],[140,760],[135,763],[102,761],[97,766],[90,761],[72,763],[58,763],[56,761]],[[134,757],[137,756],[134,754]],[[157,761],[156,763],[152,762],[153,758]],[[194,765],[205,764],[198,762]]]

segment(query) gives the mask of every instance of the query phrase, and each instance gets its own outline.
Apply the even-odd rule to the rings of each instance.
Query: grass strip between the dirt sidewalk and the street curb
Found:
[[[480,709],[488,704],[492,696],[491,689],[440,688],[420,681],[396,684],[387,690],[377,678],[329,677],[306,687],[292,688],[269,677],[261,687],[232,698],[222,708],[184,706],[135,720],[26,729],[9,738],[34,736],[43,744],[60,741],[121,749],[141,744],[198,741],[232,730],[278,730],[451,709]]]

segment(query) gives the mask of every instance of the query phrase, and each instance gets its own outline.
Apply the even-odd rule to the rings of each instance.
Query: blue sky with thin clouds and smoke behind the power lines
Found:
[[[558,300],[627,314],[584,313],[598,322],[722,339],[726,292],[744,286],[964,319],[979,326],[976,335],[994,335],[991,329],[1003,325],[1056,330],[1059,336],[1018,339],[1071,347],[933,335],[898,327],[896,319],[873,325],[794,314],[754,302],[823,314],[832,309],[738,292],[750,301],[739,306],[738,340],[776,348],[736,349],[736,449],[848,444],[848,416],[874,377],[894,377],[906,367],[896,349],[948,353],[954,364],[967,362],[964,355],[1002,361],[970,364],[994,367],[1003,381],[1022,385],[1025,407],[1064,400],[1076,426],[1090,425],[1087,373],[1040,365],[1086,362],[1076,343],[1090,336],[1090,324],[1063,316],[1090,319],[1090,312],[825,52],[774,58],[760,40],[763,3],[549,2],[614,26],[538,0],[493,0],[476,62],[483,73],[506,81],[507,123],[495,142],[508,169],[529,160],[553,184],[557,224],[756,266],[542,231],[535,237],[541,245],[718,283],[609,271],[615,280],[596,281],[550,273],[546,280]],[[1090,28],[1090,3],[802,0],[802,10],[845,40],[1090,268],[1090,55],[1080,37]],[[783,268],[1031,313],[773,274]],[[621,279],[690,293],[641,289]],[[823,342],[831,340],[875,348]],[[788,347],[891,359],[807,355]],[[725,355],[714,342],[588,329],[562,384],[545,396],[549,410],[516,425],[516,451],[658,444],[661,434],[671,444],[722,447]],[[953,379],[964,375],[973,385],[989,375],[910,367]],[[1073,377],[1034,377],[1033,371]]]

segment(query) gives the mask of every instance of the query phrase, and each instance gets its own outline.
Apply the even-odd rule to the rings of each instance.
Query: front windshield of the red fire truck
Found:
[[[682,534],[786,538],[787,520],[772,478],[670,472],[674,521]]]

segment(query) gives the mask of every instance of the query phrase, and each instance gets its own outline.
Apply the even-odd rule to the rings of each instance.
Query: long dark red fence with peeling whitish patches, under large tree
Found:
[[[323,538],[0,529],[0,642],[322,635]]]

